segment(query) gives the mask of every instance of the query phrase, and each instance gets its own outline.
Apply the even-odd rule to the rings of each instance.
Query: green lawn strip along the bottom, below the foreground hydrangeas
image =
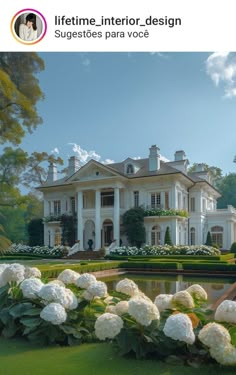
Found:
[[[193,368],[158,361],[118,357],[109,344],[35,347],[23,340],[0,338],[0,373],[4,375],[235,375],[219,365]]]

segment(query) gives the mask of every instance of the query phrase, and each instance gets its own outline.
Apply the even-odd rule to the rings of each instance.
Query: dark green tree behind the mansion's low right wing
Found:
[[[236,173],[224,176],[217,186],[221,197],[217,201],[217,208],[226,208],[227,205],[236,207]]]

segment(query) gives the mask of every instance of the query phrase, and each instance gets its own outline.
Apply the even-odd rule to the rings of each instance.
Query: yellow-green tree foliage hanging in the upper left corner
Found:
[[[0,143],[20,144],[42,123],[37,103],[44,95],[37,74],[43,69],[35,52],[0,53]]]

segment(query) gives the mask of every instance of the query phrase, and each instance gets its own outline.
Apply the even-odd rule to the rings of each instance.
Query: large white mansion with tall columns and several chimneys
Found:
[[[61,243],[63,214],[76,217],[74,240],[81,250],[88,249],[89,240],[95,250],[113,240],[126,245],[122,215],[142,206],[157,210],[156,216],[144,219],[147,244],[164,244],[169,227],[176,245],[204,244],[209,231],[214,243],[229,249],[236,241],[236,210],[216,209],[220,194],[203,164],[188,173],[184,151],[176,151],[171,162],[161,160],[159,151],[154,145],[146,159],[127,158],[108,165],[90,160],[82,167],[73,156],[67,176],[61,179],[56,166],[50,165],[48,179],[39,187],[44,196],[45,245]]]

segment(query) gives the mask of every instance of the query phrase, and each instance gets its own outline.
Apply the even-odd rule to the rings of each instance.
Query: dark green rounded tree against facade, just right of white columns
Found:
[[[124,231],[132,246],[141,247],[145,242],[144,213],[141,208],[131,208],[123,215]]]

